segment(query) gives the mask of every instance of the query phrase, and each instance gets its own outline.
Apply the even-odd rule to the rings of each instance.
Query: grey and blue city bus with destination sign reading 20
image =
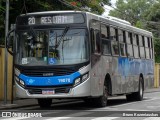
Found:
[[[99,107],[111,96],[143,100],[153,87],[152,33],[129,22],[84,11],[46,11],[17,17],[14,80],[18,98],[83,99]]]

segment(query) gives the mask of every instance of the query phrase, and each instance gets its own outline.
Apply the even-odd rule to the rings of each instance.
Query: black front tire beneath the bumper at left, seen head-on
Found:
[[[52,104],[52,99],[47,99],[47,98],[38,99],[38,104],[41,108],[49,108]]]

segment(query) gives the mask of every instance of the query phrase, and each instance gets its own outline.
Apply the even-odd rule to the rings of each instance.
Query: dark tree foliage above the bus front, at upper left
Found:
[[[87,10],[96,14],[104,12],[101,4],[110,0],[10,0],[9,23],[14,24],[20,14],[54,10]],[[6,0],[0,0],[0,44],[4,42]],[[2,40],[3,39],[3,40]]]

